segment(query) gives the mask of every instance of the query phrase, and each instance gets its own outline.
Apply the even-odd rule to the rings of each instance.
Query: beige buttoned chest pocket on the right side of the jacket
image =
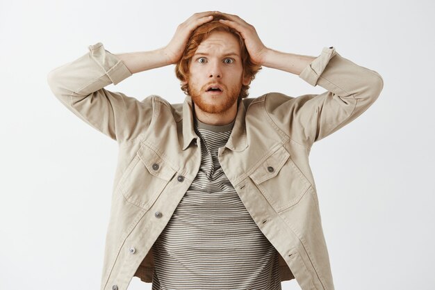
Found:
[[[311,185],[282,146],[249,177],[277,212],[296,204]]]

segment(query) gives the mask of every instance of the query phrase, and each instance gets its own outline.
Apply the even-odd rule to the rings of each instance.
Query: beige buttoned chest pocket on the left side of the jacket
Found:
[[[142,145],[124,172],[120,186],[122,194],[132,204],[149,209],[175,172],[177,170],[170,163],[147,145]]]

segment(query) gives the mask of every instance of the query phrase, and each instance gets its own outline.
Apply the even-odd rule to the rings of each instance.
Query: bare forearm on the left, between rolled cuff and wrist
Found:
[[[132,74],[171,64],[163,49],[115,54],[115,56],[120,58]]]

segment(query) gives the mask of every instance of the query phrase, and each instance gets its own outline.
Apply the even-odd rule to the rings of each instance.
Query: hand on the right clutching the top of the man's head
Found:
[[[246,49],[252,62],[257,65],[263,65],[265,61],[265,55],[268,53],[269,49],[263,45],[263,42],[261,42],[255,27],[245,22],[245,20],[241,19],[237,15],[231,15],[227,13],[221,14],[226,16],[229,20],[220,19],[219,21],[222,24],[226,24],[227,26],[231,27],[232,29],[236,29],[236,31],[238,31],[245,39]]]

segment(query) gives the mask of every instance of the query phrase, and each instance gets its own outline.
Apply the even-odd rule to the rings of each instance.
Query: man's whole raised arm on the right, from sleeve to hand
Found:
[[[295,142],[311,147],[315,141],[334,133],[367,110],[379,97],[384,81],[366,67],[325,47],[317,58],[274,51],[263,45],[254,26],[236,15],[221,20],[245,39],[254,63],[298,74],[311,86],[327,89],[320,95],[288,97],[270,93],[265,106],[270,118]]]

